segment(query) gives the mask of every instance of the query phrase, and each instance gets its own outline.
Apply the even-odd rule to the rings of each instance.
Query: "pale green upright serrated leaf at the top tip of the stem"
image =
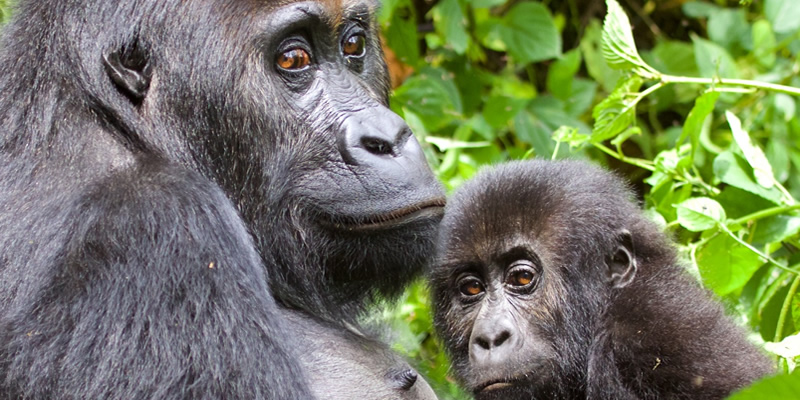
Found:
[[[603,21],[603,57],[609,66],[621,70],[651,68],[636,51],[631,22],[616,0],[606,0],[608,13]]]

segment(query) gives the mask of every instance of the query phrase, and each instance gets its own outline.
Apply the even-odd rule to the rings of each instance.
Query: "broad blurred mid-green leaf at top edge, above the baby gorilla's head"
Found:
[[[550,11],[540,3],[519,3],[503,17],[499,30],[508,53],[520,63],[561,55],[561,35]]]

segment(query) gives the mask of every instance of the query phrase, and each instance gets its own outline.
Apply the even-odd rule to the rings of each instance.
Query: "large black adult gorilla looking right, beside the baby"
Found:
[[[356,372],[312,374],[354,366],[378,397],[432,396],[352,328],[419,271],[443,205],[386,108],[374,14],[20,2],[0,54],[1,398],[337,397],[319,382]]]

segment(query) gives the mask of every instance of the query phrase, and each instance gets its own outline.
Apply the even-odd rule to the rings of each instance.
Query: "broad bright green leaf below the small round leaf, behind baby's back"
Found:
[[[744,286],[762,264],[756,253],[724,233],[697,251],[700,276],[705,285],[719,296]]]

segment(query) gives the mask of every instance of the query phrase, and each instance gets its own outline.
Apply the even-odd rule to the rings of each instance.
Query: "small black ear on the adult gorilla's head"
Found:
[[[153,69],[149,58],[138,39],[103,55],[108,77],[136,105],[141,104],[150,87]]]

